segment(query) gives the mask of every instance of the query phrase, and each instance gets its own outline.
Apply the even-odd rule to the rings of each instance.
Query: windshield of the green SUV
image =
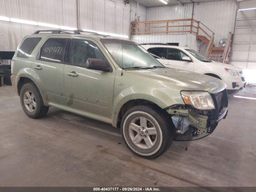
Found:
[[[100,41],[122,69],[138,70],[164,67],[135,42],[121,39],[101,39]]]

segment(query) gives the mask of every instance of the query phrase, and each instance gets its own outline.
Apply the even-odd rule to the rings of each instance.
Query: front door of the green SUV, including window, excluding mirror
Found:
[[[110,117],[113,102],[115,70],[103,72],[86,68],[89,58],[110,63],[99,46],[90,40],[72,39],[68,64],[64,66],[66,105]]]

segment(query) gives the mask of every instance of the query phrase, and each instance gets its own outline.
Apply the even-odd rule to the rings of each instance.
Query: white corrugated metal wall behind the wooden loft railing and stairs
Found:
[[[185,4],[183,7],[180,5],[152,7],[147,9],[147,21],[150,20],[172,20],[172,19],[186,19],[192,18],[193,4]],[[222,38],[227,38],[229,32],[234,31],[234,22],[236,16],[236,2],[234,0],[225,0],[218,2],[205,2],[196,4],[194,3],[194,19],[199,20],[210,28],[215,33],[214,44],[218,46],[219,41]],[[185,23],[186,24],[186,23]],[[190,22],[189,22],[190,24]],[[164,29],[163,29],[164,30]],[[163,36],[159,38],[159,36]],[[166,37],[164,37],[166,36]],[[170,35],[138,35],[133,36],[132,40],[138,40],[138,42],[154,42],[165,43],[164,40],[168,39]],[[177,39],[176,34],[171,39]],[[183,34],[181,36],[184,36]],[[145,38],[149,38],[146,40]],[[169,38],[170,39],[170,38]],[[183,38],[181,38],[182,40]],[[180,44],[184,44],[180,42]],[[196,49],[204,51],[203,45],[200,45],[200,41],[194,42]],[[193,47],[194,48],[194,47]]]

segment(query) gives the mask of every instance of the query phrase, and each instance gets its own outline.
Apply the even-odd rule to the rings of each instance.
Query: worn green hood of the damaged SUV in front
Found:
[[[175,84],[176,86],[180,86],[180,90],[207,91],[214,94],[226,88],[226,84],[217,78],[174,68],[127,70],[127,72],[157,81]]]

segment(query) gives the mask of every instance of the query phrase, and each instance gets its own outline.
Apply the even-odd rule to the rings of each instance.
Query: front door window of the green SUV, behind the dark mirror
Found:
[[[70,50],[70,64],[85,67],[89,58],[102,59],[108,62],[98,46],[88,40],[73,40]]]

